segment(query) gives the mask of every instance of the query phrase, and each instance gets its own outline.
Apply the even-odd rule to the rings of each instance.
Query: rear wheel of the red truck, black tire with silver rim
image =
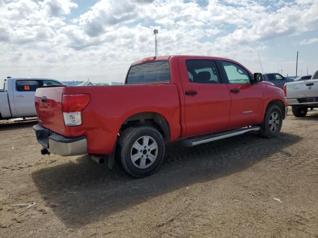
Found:
[[[142,145],[141,150],[137,150],[140,145]],[[139,126],[125,129],[119,137],[118,146],[121,165],[132,177],[142,178],[155,173],[163,161],[164,141],[160,132],[154,127]],[[155,147],[156,149],[153,149]],[[133,162],[137,157],[140,158]]]

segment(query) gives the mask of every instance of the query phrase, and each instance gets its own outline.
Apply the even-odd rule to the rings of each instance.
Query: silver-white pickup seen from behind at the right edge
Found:
[[[318,108],[318,71],[310,80],[285,83],[285,100],[295,117],[305,117],[308,109]]]

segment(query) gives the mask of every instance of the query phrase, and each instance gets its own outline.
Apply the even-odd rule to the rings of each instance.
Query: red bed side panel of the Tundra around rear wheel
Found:
[[[180,136],[179,95],[174,84],[65,87],[63,94],[90,94],[82,125],[65,126],[65,135],[85,135],[88,153],[110,154],[123,122],[143,112],[162,115],[170,127],[170,141]]]

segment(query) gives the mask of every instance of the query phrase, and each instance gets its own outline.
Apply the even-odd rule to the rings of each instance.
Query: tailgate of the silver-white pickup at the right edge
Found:
[[[286,84],[286,99],[318,96],[318,80],[291,82]]]

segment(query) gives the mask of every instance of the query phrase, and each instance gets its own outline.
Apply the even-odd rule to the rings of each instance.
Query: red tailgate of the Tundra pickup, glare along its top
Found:
[[[64,87],[38,88],[35,93],[35,108],[40,125],[65,135],[62,113],[63,90]]]

